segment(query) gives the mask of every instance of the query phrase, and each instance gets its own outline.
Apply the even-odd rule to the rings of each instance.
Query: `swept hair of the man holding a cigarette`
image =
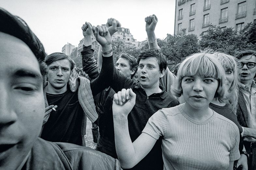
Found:
[[[70,70],[73,70],[74,68],[73,60],[64,53],[60,53],[60,52],[52,53],[45,58],[45,62],[49,66],[54,61],[57,61],[60,59],[68,59],[68,61],[70,62]]]

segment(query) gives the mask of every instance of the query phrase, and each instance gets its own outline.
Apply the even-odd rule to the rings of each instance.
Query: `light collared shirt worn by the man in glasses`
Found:
[[[253,81],[251,88],[244,84],[239,85],[245,98],[248,111],[248,127],[256,129],[256,84]]]

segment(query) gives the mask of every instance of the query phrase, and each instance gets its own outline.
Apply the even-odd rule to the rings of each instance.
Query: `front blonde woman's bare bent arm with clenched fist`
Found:
[[[115,149],[122,168],[132,168],[139,163],[153,148],[156,139],[146,133],[142,133],[133,143],[129,136],[128,119],[129,112],[135,105],[136,94],[131,89],[122,89],[114,94],[113,122]]]

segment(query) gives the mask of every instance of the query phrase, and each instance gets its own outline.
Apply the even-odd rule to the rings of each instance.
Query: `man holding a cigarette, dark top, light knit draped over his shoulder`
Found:
[[[97,27],[98,28],[98,27]],[[104,28],[99,27],[100,31]],[[105,32],[104,32],[105,33]],[[106,41],[106,40],[105,40]],[[111,46],[107,46],[110,50]],[[83,51],[86,56],[93,55],[90,48]],[[113,61],[103,57],[101,72],[91,82],[83,76],[75,75],[75,87],[68,83],[73,63],[64,53],[52,53],[46,57],[48,65],[48,85],[45,88],[45,101],[56,111],[45,115],[41,138],[52,142],[68,142],[85,146],[86,117],[92,122],[98,118],[93,96],[109,86],[113,75]],[[111,66],[110,66],[111,65]],[[83,67],[84,71],[86,69]]]

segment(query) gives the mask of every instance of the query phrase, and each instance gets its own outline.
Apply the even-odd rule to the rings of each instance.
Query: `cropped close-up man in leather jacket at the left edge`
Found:
[[[21,18],[3,8],[0,18],[0,169],[121,169],[96,150],[38,137],[45,112],[45,51]],[[108,36],[99,33],[98,41]]]

